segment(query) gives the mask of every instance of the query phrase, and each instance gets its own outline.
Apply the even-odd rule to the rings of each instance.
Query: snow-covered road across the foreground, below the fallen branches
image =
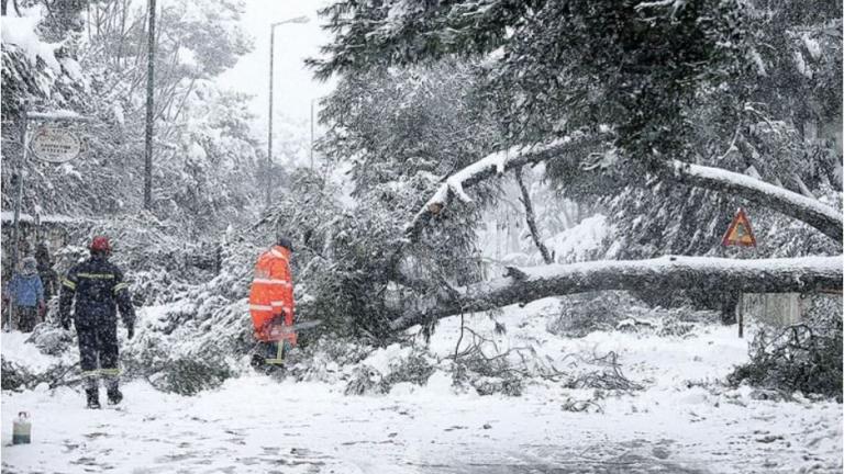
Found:
[[[841,471],[841,408],[684,406],[573,414],[546,397],[346,397],[322,384],[232,380],[187,398],[145,383],[124,409],[63,388],[4,396],[4,473],[718,473]],[[33,443],[9,447],[11,414]],[[704,408],[701,407],[699,411]],[[793,411],[793,413],[791,413]],[[774,418],[776,422],[771,422]],[[837,424],[837,425],[836,425]],[[837,453],[835,452],[837,450]],[[797,467],[797,469],[796,469]]]

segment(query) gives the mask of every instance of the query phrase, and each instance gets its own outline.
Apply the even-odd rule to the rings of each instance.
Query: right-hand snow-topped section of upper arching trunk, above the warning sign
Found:
[[[841,242],[844,237],[842,235],[844,222],[841,213],[815,199],[721,168],[679,160],[671,161],[670,168],[671,176],[666,178],[677,182],[738,195],[802,221],[837,242]]]

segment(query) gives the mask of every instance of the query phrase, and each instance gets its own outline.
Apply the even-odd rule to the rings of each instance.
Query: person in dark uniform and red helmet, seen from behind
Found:
[[[79,337],[79,362],[88,408],[100,408],[100,375],[106,381],[109,403],[115,405],[123,399],[119,388],[115,307],[120,308],[130,339],[134,335],[135,311],[123,273],[109,262],[111,246],[108,237],[95,237],[90,251],[91,258],[71,268],[62,281],[59,317],[62,327],[69,329],[70,305],[76,296],[73,319]]]

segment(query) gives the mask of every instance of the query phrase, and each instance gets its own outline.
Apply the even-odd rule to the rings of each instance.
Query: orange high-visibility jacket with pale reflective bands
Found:
[[[262,341],[278,340],[270,337],[274,319],[284,315],[285,326],[293,324],[293,280],[290,275],[290,250],[274,246],[258,257],[255,264],[255,279],[249,290],[249,313],[255,326],[255,338]],[[296,334],[284,337],[296,345]]]

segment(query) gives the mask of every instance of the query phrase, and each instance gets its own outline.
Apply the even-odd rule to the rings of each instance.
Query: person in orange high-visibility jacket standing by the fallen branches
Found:
[[[258,257],[255,279],[249,290],[249,314],[255,327],[255,339],[267,350],[263,362],[281,364],[287,350],[296,346],[293,325],[293,279],[290,274],[290,240],[279,237],[278,242]],[[275,356],[275,357],[274,357]],[[260,356],[253,364],[262,362]]]

